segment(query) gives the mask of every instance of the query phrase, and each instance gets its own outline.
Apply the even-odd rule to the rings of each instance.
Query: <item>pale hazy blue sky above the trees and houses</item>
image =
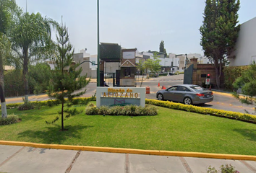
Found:
[[[16,0],[26,11],[26,0]],[[240,0],[239,24],[256,17],[256,0]],[[200,53],[199,28],[205,0],[99,0],[100,43],[118,43],[139,52]],[[69,30],[74,53],[97,54],[97,0],[27,0],[27,12],[39,12]],[[55,32],[55,31],[54,31]]]

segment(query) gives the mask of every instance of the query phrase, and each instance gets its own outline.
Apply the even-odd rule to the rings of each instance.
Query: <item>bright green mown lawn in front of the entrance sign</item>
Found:
[[[77,106],[78,110],[85,107]],[[223,117],[158,107],[156,116],[75,115],[47,125],[60,107],[8,110],[22,117],[20,123],[0,126],[0,140],[108,146],[166,151],[198,151],[256,155],[256,125]]]

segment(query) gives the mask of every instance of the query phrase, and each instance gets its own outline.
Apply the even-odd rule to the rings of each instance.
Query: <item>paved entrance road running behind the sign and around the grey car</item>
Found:
[[[142,87],[150,86],[150,94],[146,94],[147,99],[156,99],[155,93],[161,89],[162,86],[173,86],[176,84],[183,84],[184,75],[175,75],[175,76],[160,76],[158,78],[147,79],[142,82]],[[87,86],[87,92],[82,95],[82,97],[91,97],[96,92],[96,83],[95,79],[91,80]],[[158,86],[158,83],[160,86]],[[140,86],[140,82],[137,82],[137,86]],[[41,95],[31,95],[29,97],[30,101],[43,101],[48,100],[46,94]],[[12,97],[7,98],[8,103],[22,102],[22,97]],[[234,112],[242,112],[247,110],[251,114],[255,114],[254,107],[252,105],[245,105],[239,102],[237,99],[231,96],[231,94],[226,94],[223,92],[214,92],[213,102],[209,102],[205,105],[198,105],[200,107],[210,107],[218,110],[229,110]]]

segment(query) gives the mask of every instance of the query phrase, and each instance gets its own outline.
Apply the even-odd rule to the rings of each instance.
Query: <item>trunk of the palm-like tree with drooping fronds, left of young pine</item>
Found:
[[[23,80],[24,80],[24,89],[25,89],[25,102],[28,102],[28,57],[27,57],[27,51],[25,50],[23,53],[24,61],[23,61]]]

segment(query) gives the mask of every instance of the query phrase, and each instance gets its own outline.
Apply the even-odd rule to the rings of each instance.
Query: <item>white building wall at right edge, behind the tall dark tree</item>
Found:
[[[256,61],[256,17],[244,22],[239,31],[233,56],[229,66],[246,66]]]

